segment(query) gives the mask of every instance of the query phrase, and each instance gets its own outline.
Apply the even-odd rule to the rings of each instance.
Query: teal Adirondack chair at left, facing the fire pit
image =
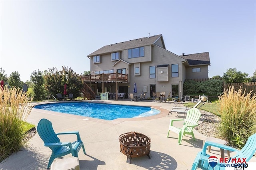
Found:
[[[78,131],[55,133],[52,128],[52,123],[47,119],[41,119],[37,125],[37,132],[40,138],[44,141],[44,146],[48,146],[52,150],[52,155],[47,168],[51,166],[55,158],[59,158],[70,153],[72,156],[78,157],[78,152],[81,147],[83,148],[84,154],[86,154],[84,144]],[[59,134],[76,134],[77,140],[72,143],[60,142],[60,139],[57,136]]]

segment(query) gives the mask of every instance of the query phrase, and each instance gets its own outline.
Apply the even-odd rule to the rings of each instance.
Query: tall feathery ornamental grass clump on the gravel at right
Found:
[[[242,148],[256,133],[256,93],[246,94],[242,87],[229,87],[217,102],[221,115],[220,136],[236,148]]]

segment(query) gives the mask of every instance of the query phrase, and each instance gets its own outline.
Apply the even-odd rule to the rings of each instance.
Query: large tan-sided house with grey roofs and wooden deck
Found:
[[[136,83],[137,93],[146,93],[146,98],[152,91],[182,97],[185,79],[208,78],[210,65],[208,52],[168,51],[162,34],[106,45],[87,57],[91,75],[82,76],[85,93],[133,93]]]

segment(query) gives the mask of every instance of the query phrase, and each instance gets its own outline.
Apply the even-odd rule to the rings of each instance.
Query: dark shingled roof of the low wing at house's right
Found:
[[[210,65],[209,52],[180,55],[186,59],[189,65]]]

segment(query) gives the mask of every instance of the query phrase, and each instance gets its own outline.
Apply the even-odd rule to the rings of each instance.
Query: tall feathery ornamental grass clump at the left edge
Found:
[[[26,144],[24,124],[31,112],[26,93],[16,87],[0,89],[0,162]]]

